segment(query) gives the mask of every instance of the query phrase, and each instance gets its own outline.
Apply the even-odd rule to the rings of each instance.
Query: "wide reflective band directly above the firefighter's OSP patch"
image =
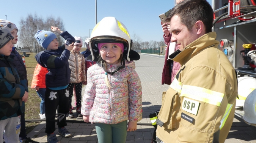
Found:
[[[224,94],[205,88],[200,88],[197,86],[183,85],[181,90],[181,96],[220,106]]]

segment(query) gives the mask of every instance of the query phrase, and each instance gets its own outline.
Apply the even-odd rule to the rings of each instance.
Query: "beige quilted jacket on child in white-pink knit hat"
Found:
[[[70,83],[86,81],[85,58],[83,57],[83,54],[71,50],[68,63],[71,70]]]

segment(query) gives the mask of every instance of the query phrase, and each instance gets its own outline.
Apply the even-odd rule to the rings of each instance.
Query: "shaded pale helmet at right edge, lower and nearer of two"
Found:
[[[245,123],[256,126],[256,90],[252,91],[245,99],[243,106],[243,120]]]

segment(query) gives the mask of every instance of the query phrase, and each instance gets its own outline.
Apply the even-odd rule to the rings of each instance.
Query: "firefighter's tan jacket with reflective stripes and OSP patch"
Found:
[[[225,142],[234,118],[237,76],[215,38],[215,32],[204,34],[171,55],[182,67],[158,115],[156,135],[164,143]]]

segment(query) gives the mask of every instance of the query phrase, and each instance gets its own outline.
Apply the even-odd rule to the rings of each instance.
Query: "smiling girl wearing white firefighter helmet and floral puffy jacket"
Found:
[[[88,68],[81,114],[95,123],[99,143],[125,143],[127,131],[135,131],[142,118],[141,82],[132,61],[140,55],[130,45],[126,27],[115,17],[93,29],[91,60],[98,62]]]

